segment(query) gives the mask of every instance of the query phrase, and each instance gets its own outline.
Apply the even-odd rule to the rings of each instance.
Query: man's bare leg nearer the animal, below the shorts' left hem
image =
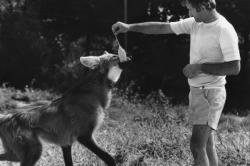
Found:
[[[194,157],[194,166],[209,166],[206,146],[211,132],[212,129],[207,125],[193,126],[190,148]]]

